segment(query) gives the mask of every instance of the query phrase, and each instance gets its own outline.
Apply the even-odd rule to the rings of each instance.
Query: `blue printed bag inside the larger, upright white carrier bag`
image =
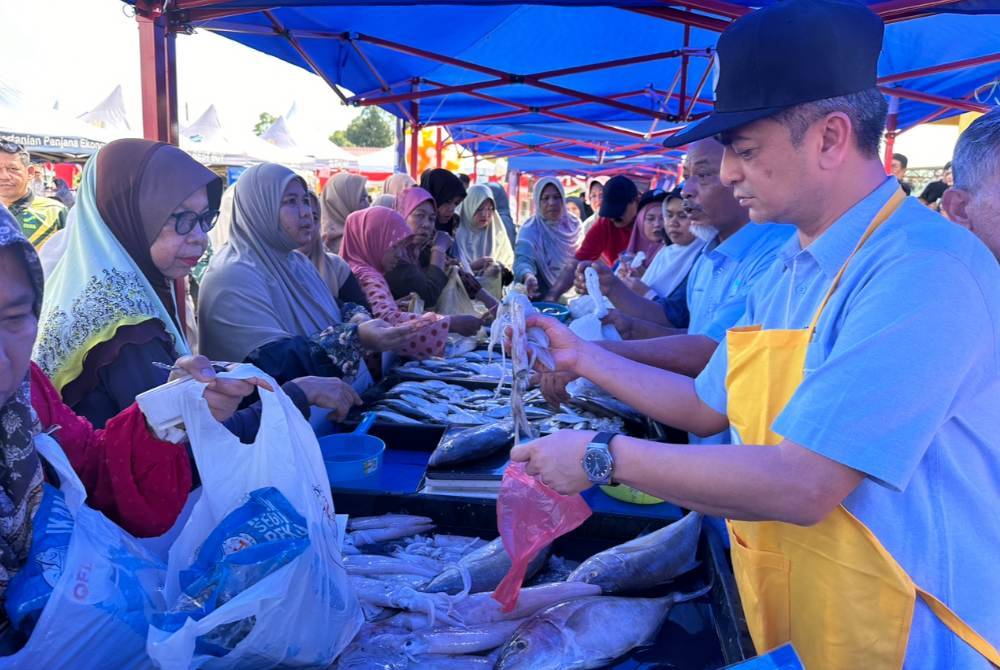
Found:
[[[182,592],[171,611],[153,624],[177,631],[188,619],[199,621],[239,593],[298,557],[309,546],[306,520],[274,487],[251,491],[246,502],[213,530],[191,567],[182,570]],[[196,651],[224,656],[253,629],[252,617],[219,626],[196,642]]]

